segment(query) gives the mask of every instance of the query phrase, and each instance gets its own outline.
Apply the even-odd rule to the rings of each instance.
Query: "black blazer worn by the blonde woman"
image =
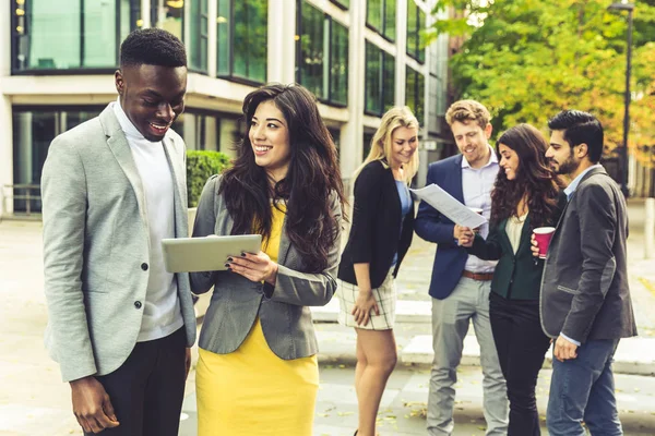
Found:
[[[414,234],[414,204],[402,216],[401,197],[391,168],[380,160],[369,162],[355,181],[353,226],[342,254],[338,278],[357,284],[354,264],[370,264],[371,288],[379,288],[395,253],[398,254],[393,277]],[[402,227],[402,234],[401,234]]]

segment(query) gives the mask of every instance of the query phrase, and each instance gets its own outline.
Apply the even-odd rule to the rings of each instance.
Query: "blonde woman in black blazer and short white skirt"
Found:
[[[418,167],[417,147],[416,117],[406,107],[392,108],[354,175],[353,226],[338,268],[338,322],[357,331],[357,436],[376,435],[380,399],[396,363],[394,278],[414,232],[407,185]]]

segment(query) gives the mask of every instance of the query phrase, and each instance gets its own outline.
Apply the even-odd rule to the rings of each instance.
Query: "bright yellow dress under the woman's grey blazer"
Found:
[[[284,211],[273,207],[264,252],[277,261]],[[310,436],[319,390],[315,355],[285,361],[271,351],[259,317],[229,354],[199,350],[199,436]]]

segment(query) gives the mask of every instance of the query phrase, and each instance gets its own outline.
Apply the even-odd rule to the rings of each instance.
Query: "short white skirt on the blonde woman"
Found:
[[[394,266],[395,267],[395,266]],[[357,325],[355,317],[353,316],[353,307],[359,295],[359,288],[356,284],[348,283],[347,281],[338,280],[338,289],[336,294],[338,295],[338,324],[347,327],[356,327],[365,330],[390,330],[395,324],[395,306],[396,306],[396,287],[393,278],[393,269],[389,270],[389,274],[384,278],[382,284],[379,288],[373,289],[373,298],[378,303],[380,315],[376,315],[376,311],[371,311],[371,317],[368,324],[365,326]]]

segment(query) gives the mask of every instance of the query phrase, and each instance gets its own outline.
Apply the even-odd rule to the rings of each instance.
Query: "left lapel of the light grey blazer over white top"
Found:
[[[100,121],[105,128],[105,135],[108,136],[107,144],[114,154],[114,157],[120,165],[120,168],[124,172],[126,177],[130,181],[134,195],[136,196],[136,203],[139,203],[139,213],[143,222],[147,222],[147,215],[145,213],[145,197],[143,191],[143,184],[141,183],[141,175],[134,164],[132,157],[132,150],[126,134],[120,129],[120,124],[114,114],[114,105],[109,105],[102,113]]]

